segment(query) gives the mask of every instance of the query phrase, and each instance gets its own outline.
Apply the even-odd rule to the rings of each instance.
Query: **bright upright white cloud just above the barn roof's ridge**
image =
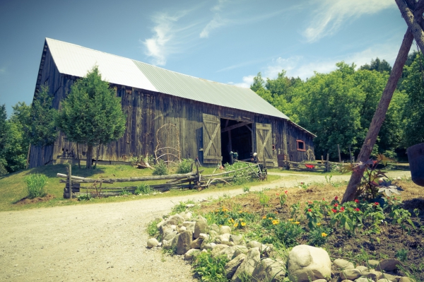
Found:
[[[146,47],[146,55],[153,58],[153,64],[163,66],[166,64],[166,57],[172,53],[170,41],[177,32],[175,23],[186,15],[186,11],[180,11],[170,16],[167,13],[158,13],[153,16],[155,27],[152,29],[153,37],[142,41]],[[175,50],[174,50],[175,51]]]

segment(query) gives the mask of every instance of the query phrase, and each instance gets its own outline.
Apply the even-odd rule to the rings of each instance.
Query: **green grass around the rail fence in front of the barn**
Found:
[[[117,201],[132,201],[137,199],[149,199],[153,197],[170,197],[170,196],[184,196],[190,194],[203,194],[211,191],[228,191],[232,189],[241,189],[242,187],[249,185],[253,186],[255,184],[263,184],[264,182],[249,182],[242,185],[226,185],[221,184],[218,187],[211,187],[204,189],[202,191],[194,190],[171,190],[167,193],[162,194],[150,194],[143,196],[126,196],[126,197],[108,197],[102,199],[91,199],[90,201],[77,201],[76,199],[64,199],[64,183],[59,183],[60,179],[57,177],[57,173],[67,174],[67,165],[45,165],[40,168],[31,168],[28,170],[21,170],[19,172],[8,174],[4,177],[0,177],[0,211],[18,211],[27,208],[43,208],[51,206],[69,206],[69,205],[79,205],[79,204],[95,204],[95,203],[110,203]],[[214,168],[199,168],[199,170],[204,170],[203,174],[211,174]],[[78,168],[77,165],[72,166],[72,175],[80,177],[140,177],[152,175],[153,170],[139,170],[137,168],[131,167],[131,165],[98,165],[95,170],[86,170],[85,168]],[[20,199],[23,199],[27,196],[28,191],[26,187],[25,178],[31,174],[40,173],[48,177],[47,184],[45,185],[45,190],[48,194],[52,194],[54,199],[49,201],[37,202],[34,204],[16,204]],[[175,173],[175,172],[170,172]],[[218,171],[216,172],[218,173]],[[278,180],[280,177],[276,175],[269,175],[268,182],[273,180]],[[146,181],[144,184],[159,184],[165,181]],[[137,186],[141,182],[124,182],[116,184],[106,184],[107,187],[124,187],[124,186]],[[106,186],[105,185],[105,186]],[[81,192],[84,192],[81,189]]]

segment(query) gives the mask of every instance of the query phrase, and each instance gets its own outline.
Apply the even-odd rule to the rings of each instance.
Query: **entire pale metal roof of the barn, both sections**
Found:
[[[249,88],[179,74],[59,40],[46,38],[46,42],[61,74],[83,77],[97,64],[102,78],[110,83],[289,119]]]

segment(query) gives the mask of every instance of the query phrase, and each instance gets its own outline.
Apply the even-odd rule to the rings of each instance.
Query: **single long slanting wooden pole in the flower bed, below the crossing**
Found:
[[[368,129],[367,136],[365,137],[363,146],[360,149],[357,162],[366,162],[370,158],[372,147],[374,147],[375,141],[377,140],[379,129],[382,127],[382,123],[386,117],[391,97],[393,96],[397,82],[401,77],[405,61],[408,59],[408,52],[409,49],[411,49],[412,40],[413,35],[408,28],[408,30],[406,30],[404,40],[402,41],[401,49],[399,49],[399,53],[396,57],[396,61],[394,61],[393,69],[391,69],[391,74],[389,76],[389,80],[387,81],[386,88],[384,88],[382,98],[379,101],[377,110],[375,110],[374,117],[372,117],[370,129]],[[365,169],[352,172],[351,180],[349,180],[346,192],[343,194],[343,199],[341,201],[342,204],[346,201],[353,201],[355,196],[358,196],[358,186],[360,184],[360,180],[363,177],[364,170]]]

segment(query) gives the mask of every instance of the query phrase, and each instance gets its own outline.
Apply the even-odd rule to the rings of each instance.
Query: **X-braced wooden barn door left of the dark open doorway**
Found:
[[[212,114],[203,114],[204,163],[220,163],[220,118]]]

